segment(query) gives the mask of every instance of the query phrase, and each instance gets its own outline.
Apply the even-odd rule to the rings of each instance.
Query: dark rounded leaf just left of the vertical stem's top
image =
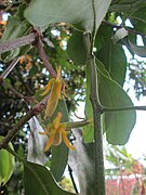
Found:
[[[74,31],[67,44],[67,52],[70,58],[78,65],[85,64],[87,53],[81,31]]]

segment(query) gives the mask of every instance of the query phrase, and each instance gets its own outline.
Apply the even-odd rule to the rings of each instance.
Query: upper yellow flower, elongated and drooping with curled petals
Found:
[[[58,104],[58,100],[61,99],[62,84],[63,84],[63,94],[65,95],[65,84],[61,80],[61,67],[59,67],[57,69],[56,78],[52,78],[48,82],[45,91],[41,94],[41,95],[45,95],[51,91],[50,98],[48,100],[45,118],[50,118],[53,115],[53,113]]]

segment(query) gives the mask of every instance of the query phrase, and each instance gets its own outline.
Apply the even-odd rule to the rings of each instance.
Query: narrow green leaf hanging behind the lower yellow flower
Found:
[[[68,121],[68,110],[66,103],[61,100],[55,113],[62,113],[62,121]],[[68,147],[64,143],[58,146],[52,146],[51,172],[55,180],[59,180],[63,176],[68,160]]]

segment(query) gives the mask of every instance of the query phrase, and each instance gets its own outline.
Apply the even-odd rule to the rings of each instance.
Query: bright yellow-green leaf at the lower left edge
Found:
[[[0,141],[3,136],[0,136]],[[12,143],[9,146],[13,148]],[[15,166],[15,158],[8,151],[0,151],[0,185],[4,185],[11,178]]]

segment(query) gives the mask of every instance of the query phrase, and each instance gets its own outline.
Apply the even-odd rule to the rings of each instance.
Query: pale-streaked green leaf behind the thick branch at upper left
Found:
[[[28,22],[26,21],[21,21],[19,17],[17,16],[10,16],[5,26],[5,30],[2,35],[2,38],[0,39],[0,42],[5,42],[8,40],[13,40],[15,38],[22,37],[24,35],[26,35],[30,29],[30,25],[28,24]],[[28,50],[30,49],[29,46],[27,47],[22,47],[11,50],[9,52],[5,52],[3,54],[1,54],[1,58],[4,62],[10,62],[13,58],[15,58],[19,52],[21,55],[25,54]]]

